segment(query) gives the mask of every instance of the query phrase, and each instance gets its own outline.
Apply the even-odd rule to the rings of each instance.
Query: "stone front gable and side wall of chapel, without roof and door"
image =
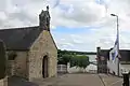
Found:
[[[9,60],[10,75],[27,78],[42,77],[42,59],[48,56],[49,77],[56,75],[57,49],[49,31],[43,31],[29,52],[16,52],[17,57]]]

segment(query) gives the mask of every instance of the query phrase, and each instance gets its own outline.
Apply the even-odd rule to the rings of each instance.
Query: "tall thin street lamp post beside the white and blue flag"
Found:
[[[118,40],[118,42],[119,42],[119,22],[118,22],[118,15],[116,15],[116,14],[110,14],[112,16],[115,16],[116,18],[117,18],[117,40]],[[118,48],[118,55],[119,55],[119,43],[118,43],[118,45],[117,45],[117,48]],[[119,76],[119,57],[118,57],[118,76]]]

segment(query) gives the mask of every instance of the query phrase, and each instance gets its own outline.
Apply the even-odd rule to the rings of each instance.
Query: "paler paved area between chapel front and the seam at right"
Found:
[[[65,74],[35,82],[40,86],[103,86],[98,74]]]

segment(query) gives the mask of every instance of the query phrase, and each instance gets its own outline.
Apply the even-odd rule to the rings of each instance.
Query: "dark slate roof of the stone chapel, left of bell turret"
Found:
[[[1,29],[0,40],[5,43],[8,51],[27,51],[41,31],[39,26]]]

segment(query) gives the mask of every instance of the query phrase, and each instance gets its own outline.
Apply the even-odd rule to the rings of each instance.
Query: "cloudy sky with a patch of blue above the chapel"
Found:
[[[116,40],[130,49],[130,0],[0,0],[0,28],[39,25],[39,14],[50,6],[51,33],[60,49],[95,52],[109,49]]]

